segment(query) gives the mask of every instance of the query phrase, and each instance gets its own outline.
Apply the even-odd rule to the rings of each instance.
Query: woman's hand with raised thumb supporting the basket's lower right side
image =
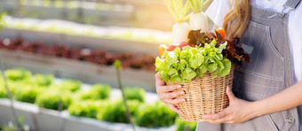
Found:
[[[229,98],[229,106],[222,110],[221,112],[215,114],[206,114],[203,116],[205,119],[211,119],[207,122],[213,124],[219,123],[231,123],[237,124],[244,122],[246,120],[256,117],[256,112],[254,112],[255,104],[254,102],[248,102],[242,99],[239,99],[234,96],[232,90],[227,87],[227,96]]]

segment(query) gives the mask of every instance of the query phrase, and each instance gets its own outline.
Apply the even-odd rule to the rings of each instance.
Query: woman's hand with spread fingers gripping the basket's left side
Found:
[[[163,81],[163,79],[159,76],[158,73],[155,74],[155,80],[156,80],[156,92],[158,94],[158,97],[163,101],[163,103],[167,104],[173,112],[183,114],[183,112],[179,111],[179,109],[175,107],[174,104],[180,104],[186,101],[184,98],[176,98],[177,96],[185,95],[185,92],[184,91],[172,92],[175,89],[180,89],[181,86],[166,85],[166,83]]]

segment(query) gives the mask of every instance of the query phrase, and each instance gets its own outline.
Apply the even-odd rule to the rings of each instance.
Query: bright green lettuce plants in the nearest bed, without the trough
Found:
[[[102,121],[129,123],[122,98],[111,98],[111,87],[95,84],[82,89],[82,82],[75,80],[54,81],[50,74],[32,74],[24,69],[6,71],[8,87],[15,100],[39,107],[63,111],[70,115]],[[175,123],[178,130],[195,130],[196,123],[183,122],[166,104],[160,101],[145,103],[145,90],[124,89],[131,115],[139,127],[169,127]],[[6,98],[3,75],[0,77],[0,98]]]

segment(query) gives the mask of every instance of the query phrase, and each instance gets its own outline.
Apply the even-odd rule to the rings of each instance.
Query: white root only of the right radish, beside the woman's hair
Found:
[[[209,31],[208,18],[203,12],[193,13],[189,19],[189,24],[192,30]]]

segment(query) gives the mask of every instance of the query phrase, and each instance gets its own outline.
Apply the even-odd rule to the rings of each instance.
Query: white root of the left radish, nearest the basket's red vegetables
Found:
[[[189,31],[187,22],[176,22],[172,28],[172,43],[178,45],[180,42],[187,42]]]

